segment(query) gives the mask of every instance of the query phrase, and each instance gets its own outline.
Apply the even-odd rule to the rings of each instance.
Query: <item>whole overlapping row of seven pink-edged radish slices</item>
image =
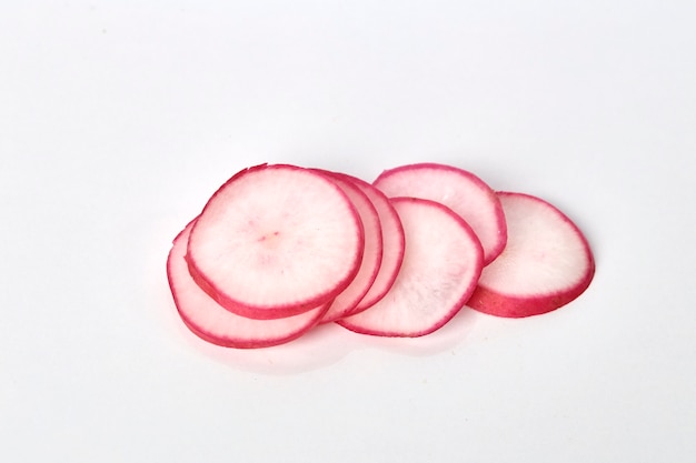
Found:
[[[465,305],[537,315],[579,296],[594,269],[587,240],[554,205],[432,163],[372,183],[296,165],[245,169],[167,261],[186,325],[230,348],[282,344],[329,322],[421,336]]]

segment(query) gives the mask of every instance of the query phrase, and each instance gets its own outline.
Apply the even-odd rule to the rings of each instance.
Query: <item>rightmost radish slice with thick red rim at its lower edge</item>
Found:
[[[467,305],[498,316],[521,318],[556,310],[579,296],[595,273],[580,230],[548,202],[498,193],[508,225],[505,251],[481,274]]]

